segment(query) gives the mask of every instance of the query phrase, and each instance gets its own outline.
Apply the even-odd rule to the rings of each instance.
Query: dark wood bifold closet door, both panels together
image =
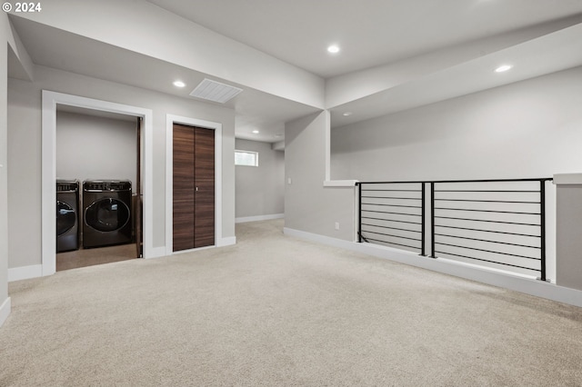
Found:
[[[173,250],[215,244],[215,131],[174,124]]]

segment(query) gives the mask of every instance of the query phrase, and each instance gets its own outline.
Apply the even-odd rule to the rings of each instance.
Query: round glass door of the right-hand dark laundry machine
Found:
[[[85,209],[85,223],[97,231],[110,233],[129,222],[129,207],[117,199],[104,198]]]

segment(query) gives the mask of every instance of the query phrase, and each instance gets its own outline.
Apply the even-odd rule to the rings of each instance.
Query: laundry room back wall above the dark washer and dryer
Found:
[[[57,110],[56,177],[130,180],[135,192],[137,124]]]

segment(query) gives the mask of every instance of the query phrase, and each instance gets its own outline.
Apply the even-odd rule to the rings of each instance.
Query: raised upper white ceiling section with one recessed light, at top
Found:
[[[324,78],[582,12],[580,0],[147,1]]]

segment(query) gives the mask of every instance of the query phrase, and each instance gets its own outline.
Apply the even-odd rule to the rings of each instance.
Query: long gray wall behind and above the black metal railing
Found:
[[[551,177],[582,168],[582,67],[332,130],[332,177]]]

